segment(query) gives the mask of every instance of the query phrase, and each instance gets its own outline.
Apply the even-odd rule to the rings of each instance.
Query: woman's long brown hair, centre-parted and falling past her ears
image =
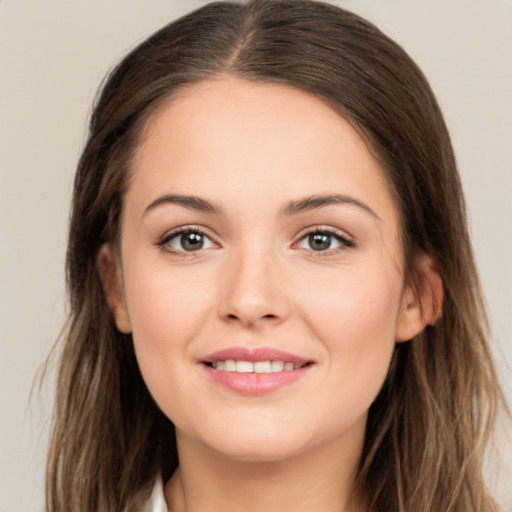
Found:
[[[131,336],[115,328],[96,260],[118,236],[148,118],[179,89],[222,74],[296,87],[352,122],[399,205],[407,278],[420,253],[439,269],[442,316],[397,345],[370,409],[358,485],[371,510],[497,510],[481,466],[502,397],[442,115],[400,46],[313,0],[208,4],[139,45],[105,82],[74,186],[48,510],[135,510],[157,475],[168,478],[178,465],[173,425],[146,389]]]

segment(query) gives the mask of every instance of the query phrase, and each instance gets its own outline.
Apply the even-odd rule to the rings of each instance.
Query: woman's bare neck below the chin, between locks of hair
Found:
[[[362,446],[358,431],[284,460],[241,461],[178,434],[166,502],[171,512],[363,512],[353,492]]]

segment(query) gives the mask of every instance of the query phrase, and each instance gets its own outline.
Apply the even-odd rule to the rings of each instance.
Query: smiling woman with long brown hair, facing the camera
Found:
[[[497,510],[449,136],[357,16],[221,2],[131,52],[67,269],[49,510]]]

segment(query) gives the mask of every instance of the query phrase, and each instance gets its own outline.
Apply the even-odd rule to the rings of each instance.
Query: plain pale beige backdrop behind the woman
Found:
[[[127,49],[204,3],[0,0],[1,512],[44,509],[52,375],[32,399],[30,390],[64,321],[70,190],[90,104]],[[492,347],[510,400],[512,1],[337,3],[402,44],[438,96],[458,155]],[[512,510],[509,443],[502,432],[494,485]]]

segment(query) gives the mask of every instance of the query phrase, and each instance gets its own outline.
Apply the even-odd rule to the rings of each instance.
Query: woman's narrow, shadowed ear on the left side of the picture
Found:
[[[108,308],[114,317],[116,327],[119,331],[128,334],[132,331],[132,327],[123,293],[121,268],[117,258],[112,254],[110,244],[106,243],[101,246],[96,261],[103,293],[105,294]]]

